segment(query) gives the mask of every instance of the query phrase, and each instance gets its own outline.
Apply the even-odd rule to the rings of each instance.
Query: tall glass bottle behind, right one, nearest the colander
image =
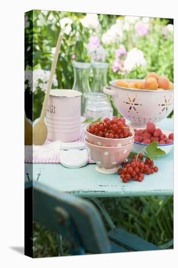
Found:
[[[93,62],[91,63],[93,70],[92,92],[103,93],[103,87],[107,86],[107,70],[109,64],[107,62]]]

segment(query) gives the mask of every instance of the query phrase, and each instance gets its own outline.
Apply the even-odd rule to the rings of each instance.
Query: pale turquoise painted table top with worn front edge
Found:
[[[164,119],[158,126],[173,131],[173,120]],[[150,196],[173,194],[173,150],[155,161],[159,172],[145,176],[140,182],[123,183],[118,174],[95,171],[95,164],[68,169],[61,164],[25,164],[26,179],[37,180],[56,191],[82,197]],[[27,175],[28,174],[28,175]]]

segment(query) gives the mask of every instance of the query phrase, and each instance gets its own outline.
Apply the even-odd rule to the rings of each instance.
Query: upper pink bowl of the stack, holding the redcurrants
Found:
[[[99,137],[93,135],[87,131],[89,125],[85,127],[85,134],[87,141],[91,144],[98,145],[98,146],[105,146],[105,147],[121,147],[128,144],[131,144],[134,141],[135,132],[134,130],[130,130],[132,132],[132,136],[123,138],[123,139],[109,139],[104,137]]]

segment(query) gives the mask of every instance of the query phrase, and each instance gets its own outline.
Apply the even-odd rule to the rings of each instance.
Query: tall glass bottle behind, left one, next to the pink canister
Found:
[[[91,64],[86,62],[73,62],[74,83],[72,89],[82,93],[81,99],[81,115],[85,113],[85,102],[87,93],[90,93],[89,73]]]

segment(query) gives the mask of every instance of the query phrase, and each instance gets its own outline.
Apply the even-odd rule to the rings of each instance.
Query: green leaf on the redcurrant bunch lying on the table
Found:
[[[158,141],[153,141],[148,146],[146,147],[144,155],[151,160],[157,160],[158,156],[163,156],[166,153],[162,151],[161,149],[157,148],[158,147]]]

